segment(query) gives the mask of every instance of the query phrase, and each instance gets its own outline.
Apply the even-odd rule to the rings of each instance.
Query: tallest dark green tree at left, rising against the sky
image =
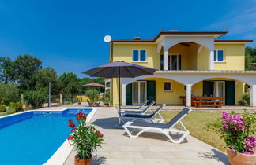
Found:
[[[32,89],[34,87],[31,84],[32,76],[41,68],[42,62],[38,58],[27,54],[23,56],[19,55],[13,61],[13,69],[21,90]]]

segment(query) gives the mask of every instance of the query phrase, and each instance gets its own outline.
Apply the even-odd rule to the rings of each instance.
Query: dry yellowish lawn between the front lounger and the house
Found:
[[[161,112],[165,122],[170,121],[178,112]],[[220,118],[221,113],[218,112],[190,112],[182,121],[188,130],[190,135],[194,138],[198,138],[205,143],[212,145],[221,151],[226,152],[226,149],[222,146],[224,141],[220,138],[220,134],[216,134],[213,130],[205,130],[205,124],[214,123],[216,119]]]

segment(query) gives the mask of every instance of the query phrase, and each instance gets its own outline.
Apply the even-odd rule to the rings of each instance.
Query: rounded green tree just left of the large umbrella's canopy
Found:
[[[64,97],[73,97],[81,94],[80,79],[74,73],[63,73],[58,77],[58,82]]]

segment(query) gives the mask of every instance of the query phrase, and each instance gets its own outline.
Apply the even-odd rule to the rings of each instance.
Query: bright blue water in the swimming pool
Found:
[[[88,114],[91,110],[25,112],[0,118],[0,164],[46,163],[71,134],[68,120],[77,112]]]

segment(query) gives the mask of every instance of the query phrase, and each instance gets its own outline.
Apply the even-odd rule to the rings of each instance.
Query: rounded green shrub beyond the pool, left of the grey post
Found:
[[[47,94],[42,90],[27,90],[24,99],[32,108],[42,108],[43,103],[47,101]]]

